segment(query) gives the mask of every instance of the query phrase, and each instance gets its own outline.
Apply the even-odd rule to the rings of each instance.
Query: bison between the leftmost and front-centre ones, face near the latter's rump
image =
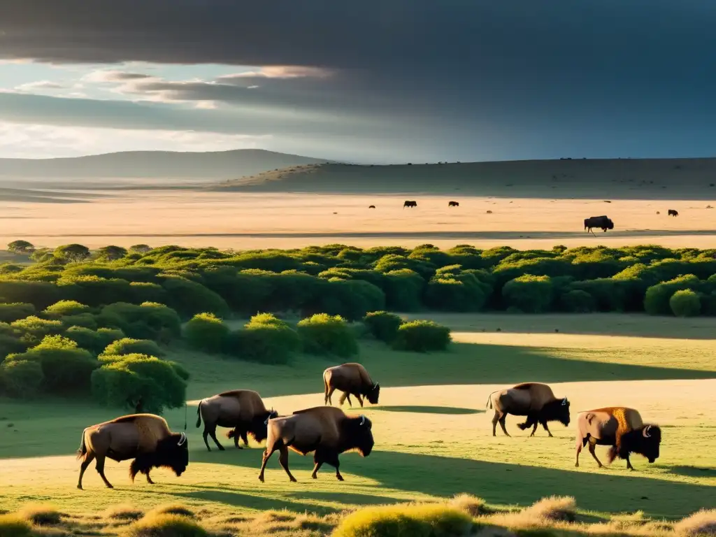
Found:
[[[269,418],[279,415],[274,409],[266,410],[261,396],[251,390],[233,390],[223,392],[213,397],[200,400],[196,409],[196,426],[200,427],[201,420],[204,420],[204,443],[209,448],[208,436],[216,446],[223,451],[223,445],[216,439],[216,427],[231,427],[227,433],[228,438],[233,438],[236,448],[243,449],[238,445],[241,437],[243,445],[248,445],[247,433],[253,436],[256,442],[266,440],[266,424]]]

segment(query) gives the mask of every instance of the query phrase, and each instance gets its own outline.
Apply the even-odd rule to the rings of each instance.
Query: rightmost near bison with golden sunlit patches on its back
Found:
[[[634,470],[629,460],[630,453],[639,453],[653,463],[659,458],[659,444],[662,430],[658,425],[644,425],[637,410],[627,407],[599,408],[580,412],[577,416],[576,467],[579,467],[579,453],[589,443],[589,453],[599,468],[601,461],[594,453],[595,445],[609,445],[609,463],[616,457],[627,460],[627,468]]]

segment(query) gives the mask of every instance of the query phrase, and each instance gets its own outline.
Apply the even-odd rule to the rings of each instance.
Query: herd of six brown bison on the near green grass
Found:
[[[248,445],[248,435],[256,442],[266,440],[266,449],[261,458],[258,479],[263,483],[263,473],[271,455],[279,452],[279,464],[294,482],[296,478],[289,469],[289,450],[301,455],[314,454],[314,470],[311,477],[316,479],[324,464],[336,469],[336,478],[343,477],[339,470],[339,455],[355,450],[363,457],[370,455],[373,445],[372,422],[365,415],[347,415],[332,406],[333,393],[342,392],[339,403],[353,396],[361,407],[364,400],[378,404],[380,385],[374,382],[361,364],[349,363],[329,367],[323,372],[324,406],[298,410],[291,415],[281,416],[273,408],[266,409],[261,396],[252,390],[232,390],[199,402],[196,427],[203,421],[203,438],[206,449],[211,451],[208,437],[219,450],[223,446],[216,438],[216,427],[227,427],[228,438],[233,438],[236,448],[243,449],[239,440]],[[497,424],[505,435],[508,414],[524,417],[518,424],[521,430],[533,427],[534,436],[541,425],[551,437],[549,422],[561,422],[565,427],[570,423],[569,400],[556,397],[547,384],[527,382],[514,387],[498,390],[488,397],[487,406],[495,410],[493,436]],[[576,464],[579,453],[589,444],[596,463],[602,464],[594,453],[596,445],[608,445],[609,463],[615,458],[627,461],[627,468],[634,470],[629,455],[639,453],[653,463],[659,457],[662,434],[658,425],[644,424],[637,410],[627,407],[606,407],[579,412],[576,417]],[[77,488],[82,489],[82,476],[92,460],[97,460],[97,473],[107,487],[112,485],[105,477],[105,459],[117,462],[132,460],[130,478],[143,473],[147,482],[153,483],[150,470],[169,468],[180,476],[189,464],[188,440],[184,432],[172,432],[163,417],[153,414],[133,414],[115,420],[92,425],[82,431],[82,440],[77,451],[82,460]]]

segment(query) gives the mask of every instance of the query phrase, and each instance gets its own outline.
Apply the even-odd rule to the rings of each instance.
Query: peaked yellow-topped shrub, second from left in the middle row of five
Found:
[[[227,351],[264,364],[286,364],[301,347],[299,335],[273,314],[258,314],[241,330],[229,334]]]

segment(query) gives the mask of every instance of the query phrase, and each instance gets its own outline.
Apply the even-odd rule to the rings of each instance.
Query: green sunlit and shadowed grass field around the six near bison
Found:
[[[499,322],[507,316],[450,318],[458,330]],[[92,468],[85,490],[74,488],[78,464],[71,453],[83,427],[116,412],[83,402],[43,404],[0,402],[0,496],[6,509],[26,501],[50,501],[70,513],[96,512],[117,503],[144,508],[180,501],[206,516],[289,508],[333,513],[342,508],[468,492],[488,503],[528,505],[541,496],[574,495],[591,516],[642,510],[649,517],[676,518],[716,502],[716,346],[714,340],[654,338],[652,318],[632,317],[650,337],[578,334],[579,326],[607,324],[609,316],[562,319],[564,332],[532,332],[521,316],[521,333],[457,332],[449,352],[409,354],[366,343],[359,360],[381,382],[380,405],[363,412],[374,422],[376,447],[369,458],[344,455],[344,483],[326,468],[309,477],[311,458],[292,453],[299,483],[289,483],[272,459],[266,484],[256,479],[261,449],[207,453],[195,429],[195,400],[230,387],[252,387],[281,413],[322,403],[321,371],[332,362],[301,357],[292,366],[263,366],[174,349],[175,359],[193,374],[188,433],[190,468],[181,478],[155,472],[157,485],[130,484],[127,464],[108,463],[115,490],[105,490]],[[495,319],[496,318],[496,319]],[[674,320],[674,323],[683,321]],[[688,322],[688,321],[684,321]],[[685,326],[685,325],[684,325]],[[512,438],[491,436],[485,401],[490,392],[525,380],[550,382],[567,395],[573,414],[604,405],[637,407],[646,420],[664,427],[662,455],[654,465],[634,458],[637,473],[623,461],[602,470],[588,453],[574,468],[574,423],[553,424],[554,438],[543,430],[528,438],[508,418]],[[357,410],[353,410],[357,412]],[[175,430],[184,410],[168,412]],[[7,424],[7,425],[5,425]],[[604,449],[598,449],[604,460]],[[586,456],[585,456],[586,455]]]

